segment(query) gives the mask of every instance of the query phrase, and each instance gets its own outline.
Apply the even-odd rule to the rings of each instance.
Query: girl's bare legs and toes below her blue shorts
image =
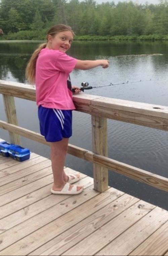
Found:
[[[68,180],[68,176],[64,172],[65,158],[67,155],[68,149],[68,138],[63,138],[57,142],[50,142],[51,147],[51,165],[53,172],[53,187],[55,191],[61,191]],[[71,190],[73,185],[70,185],[69,190]],[[82,187],[77,186],[77,190],[80,190]]]

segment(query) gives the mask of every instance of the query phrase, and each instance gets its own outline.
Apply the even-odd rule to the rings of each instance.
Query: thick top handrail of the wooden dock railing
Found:
[[[28,100],[36,100],[35,87],[0,80],[0,93]],[[120,100],[81,93],[74,95],[77,111],[168,131],[168,107],[156,104]]]

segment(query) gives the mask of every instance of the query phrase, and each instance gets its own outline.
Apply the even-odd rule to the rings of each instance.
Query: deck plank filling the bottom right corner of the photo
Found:
[[[168,221],[129,255],[168,255]]]

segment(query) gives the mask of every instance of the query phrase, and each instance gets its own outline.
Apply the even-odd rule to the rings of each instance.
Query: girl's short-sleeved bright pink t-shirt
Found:
[[[69,73],[77,59],[57,50],[44,48],[36,62],[36,102],[47,108],[75,109],[71,86],[68,86]]]

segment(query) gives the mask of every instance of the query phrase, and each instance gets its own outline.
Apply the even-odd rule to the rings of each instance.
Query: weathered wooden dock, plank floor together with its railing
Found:
[[[21,145],[24,136],[48,145],[17,121],[14,98],[35,101],[35,88],[0,80],[0,94],[6,114],[0,128],[10,142]],[[109,158],[107,139],[108,119],[168,131],[168,106],[87,94],[73,101],[76,111],[91,115],[92,151],[69,144],[68,153],[93,163],[94,180],[81,173],[84,192],[52,195],[49,159],[31,153],[20,163],[0,156],[0,255],[168,256],[168,211],[110,188],[108,171],[167,192],[168,178]]]

